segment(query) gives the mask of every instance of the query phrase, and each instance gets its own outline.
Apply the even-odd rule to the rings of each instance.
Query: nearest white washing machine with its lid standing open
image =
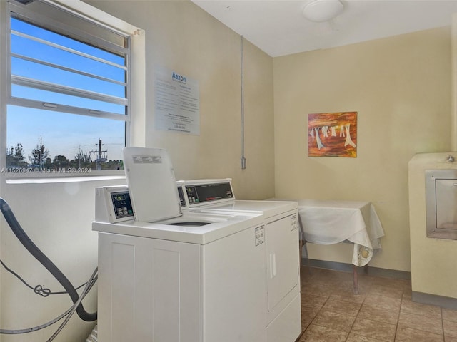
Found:
[[[96,189],[100,341],[266,341],[261,214],[182,210],[164,150],[124,163],[128,188]]]

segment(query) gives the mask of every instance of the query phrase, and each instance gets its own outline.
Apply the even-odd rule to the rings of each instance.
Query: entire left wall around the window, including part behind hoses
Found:
[[[191,1],[87,2],[146,32],[146,119],[134,113],[134,141],[141,145],[146,140],[146,146],[169,150],[177,178],[233,177],[238,198],[273,197],[273,59],[244,41],[248,166],[241,170],[240,36]],[[155,66],[199,81],[200,135],[154,129]],[[0,196],[31,239],[74,285],[84,283],[97,264],[97,236],[91,231],[94,187],[125,184],[125,180],[17,185],[4,184],[0,175],[0,182]],[[0,228],[0,259],[30,284],[60,291],[61,286],[26,252],[3,219]],[[37,326],[71,305],[65,295],[44,299],[2,268],[0,274],[1,328]],[[84,305],[88,311],[96,310],[96,290]],[[0,340],[46,341],[58,325],[31,334],[1,335]],[[93,326],[94,322],[74,315],[54,341],[85,341]]]

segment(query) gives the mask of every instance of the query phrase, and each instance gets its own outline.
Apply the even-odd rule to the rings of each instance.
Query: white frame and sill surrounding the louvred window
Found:
[[[7,127],[6,127],[6,109],[7,105],[20,105],[22,107],[31,107],[31,108],[39,108],[39,109],[45,109],[45,110],[55,110],[61,113],[73,113],[76,115],[87,115],[87,116],[93,116],[96,118],[106,118],[107,120],[121,120],[125,122],[126,130],[125,130],[125,144],[126,146],[131,145],[131,130],[133,126],[133,121],[134,119],[132,118],[131,113],[134,113],[134,110],[138,111],[138,115],[136,115],[140,120],[141,118],[144,118],[144,82],[141,82],[141,79],[139,81],[136,81],[135,83],[132,83],[132,80],[135,78],[132,78],[132,73],[135,73],[136,75],[139,75],[139,73],[144,74],[144,31],[141,30],[140,28],[136,28],[135,26],[132,26],[131,24],[126,23],[125,21],[121,19],[117,19],[114,16],[111,16],[109,14],[106,14],[104,11],[101,11],[99,9],[96,9],[93,6],[90,6],[89,4],[86,4],[82,1],[65,1],[65,0],[36,0],[36,1],[41,1],[42,3],[46,5],[52,5],[55,6],[57,9],[66,11],[69,14],[73,14],[76,16],[79,16],[79,18],[84,19],[86,21],[91,21],[92,23],[96,23],[97,26],[101,26],[102,28],[109,29],[111,31],[114,31],[115,33],[121,34],[122,36],[128,36],[129,41],[130,41],[130,46],[127,46],[127,48],[130,48],[130,52],[126,54],[126,67],[129,68],[130,72],[127,72],[127,87],[126,87],[126,114],[121,115],[121,114],[111,114],[111,113],[106,113],[106,112],[96,112],[96,113],[91,113],[91,110],[79,110],[78,108],[75,107],[70,107],[65,106],[65,105],[58,105],[58,108],[49,108],[47,106],[44,106],[42,103],[39,105],[34,102],[33,100],[24,100],[21,98],[13,98],[11,96],[11,82],[13,81],[11,79],[11,49],[10,49],[10,35],[11,35],[11,27],[10,27],[10,17],[11,17],[11,11],[14,11],[15,17],[19,17],[21,19],[21,16],[26,15],[27,18],[33,19],[35,21],[35,24],[40,26],[40,17],[41,20],[43,20],[43,17],[41,15],[34,15],[31,14],[30,11],[26,9],[27,5],[21,5],[17,4],[14,0],[6,0],[6,1],[1,1],[3,4],[0,4],[0,13],[1,18],[3,19],[0,27],[0,108],[1,108],[1,118],[0,118],[0,147],[5,151],[4,153],[0,154],[0,170],[6,170],[6,149],[8,148],[6,145],[6,134],[7,134]],[[19,15],[17,15],[19,14]],[[55,22],[53,23],[54,29],[53,31],[56,31],[56,25]],[[58,28],[58,27],[57,27]],[[6,53],[2,53],[2,51],[5,51]],[[133,68],[133,63],[131,61],[134,60],[136,61],[137,66]],[[3,91],[6,90],[6,91]],[[132,94],[138,93],[132,98]],[[143,97],[141,97],[141,94]],[[134,109],[135,108],[135,109]],[[138,125],[138,124],[137,124]],[[140,135],[141,139],[141,135]],[[144,140],[142,142],[143,145]],[[56,173],[51,173],[51,174],[46,174],[46,173],[39,173],[39,174],[34,174],[34,173],[7,173],[7,172],[1,172],[0,177],[4,177],[6,182],[8,180],[15,180],[15,179],[21,179],[21,178],[64,178],[67,179],[69,177],[78,177],[81,179],[81,176],[84,176],[84,179],[86,179],[88,176],[89,178],[94,178],[97,176],[101,177],[106,177],[109,175],[113,176],[124,176],[124,170],[94,170],[94,172],[91,172],[89,174],[56,174]],[[36,182],[36,181],[35,181]]]

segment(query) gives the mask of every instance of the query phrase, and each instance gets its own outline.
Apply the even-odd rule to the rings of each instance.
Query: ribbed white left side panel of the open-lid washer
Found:
[[[99,341],[201,342],[200,246],[99,233]]]

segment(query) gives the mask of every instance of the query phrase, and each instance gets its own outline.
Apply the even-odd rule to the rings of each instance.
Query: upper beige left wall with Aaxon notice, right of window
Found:
[[[247,168],[241,170],[240,36],[191,1],[87,2],[146,31],[146,146],[169,150],[176,178],[231,177],[238,199],[273,197],[273,58],[243,42]],[[154,129],[156,66],[199,81],[199,136]]]

